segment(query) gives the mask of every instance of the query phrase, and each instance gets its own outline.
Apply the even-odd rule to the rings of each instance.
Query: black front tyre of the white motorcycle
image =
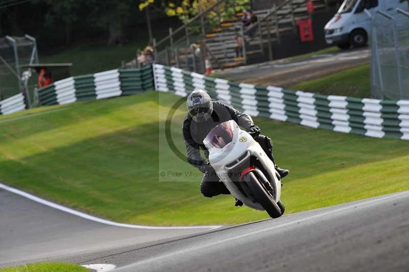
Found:
[[[272,198],[264,186],[261,185],[254,172],[246,174],[244,180],[252,191],[254,198],[260,203],[271,218],[278,218],[283,214],[274,198]]]

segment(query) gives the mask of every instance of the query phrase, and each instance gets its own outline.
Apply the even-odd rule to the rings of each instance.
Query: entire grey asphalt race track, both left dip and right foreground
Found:
[[[107,226],[4,190],[0,199],[0,266],[58,260],[110,263],[118,272],[409,270],[409,191],[195,234],[200,229]]]

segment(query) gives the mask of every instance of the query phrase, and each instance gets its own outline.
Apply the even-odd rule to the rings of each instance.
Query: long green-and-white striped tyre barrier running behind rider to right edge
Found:
[[[409,140],[409,101],[324,96],[274,86],[235,83],[153,65],[155,89],[186,96],[204,89],[216,100],[254,117],[356,133],[376,138]]]

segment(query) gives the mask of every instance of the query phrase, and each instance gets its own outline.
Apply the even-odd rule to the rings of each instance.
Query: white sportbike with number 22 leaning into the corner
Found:
[[[253,137],[233,120],[214,127],[205,140],[210,165],[232,195],[247,207],[284,214],[281,177]]]

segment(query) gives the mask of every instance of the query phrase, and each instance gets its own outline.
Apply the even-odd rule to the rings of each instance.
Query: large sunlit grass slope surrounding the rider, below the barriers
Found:
[[[203,197],[200,177],[185,175],[198,172],[170,152],[162,133],[178,99],[149,92],[0,117],[0,180],[120,222],[234,224],[267,218],[234,207],[231,196]],[[182,105],[171,129],[182,153],[184,116]],[[278,164],[291,171],[282,190],[286,213],[409,189],[409,142],[255,122],[274,139]],[[162,178],[162,171],[183,174]]]

